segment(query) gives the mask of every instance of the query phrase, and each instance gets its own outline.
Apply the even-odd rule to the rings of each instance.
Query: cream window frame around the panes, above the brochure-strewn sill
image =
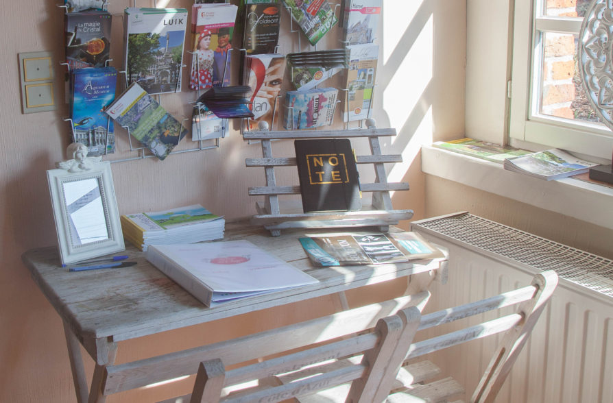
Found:
[[[571,123],[568,119],[533,116],[532,106],[540,94],[536,58],[540,49],[538,32],[579,34],[581,17],[537,17],[536,10],[543,0],[515,1],[512,80],[510,84],[509,143],[535,149],[557,147],[576,154],[611,160],[613,133],[607,127],[588,123]],[[535,91],[532,88],[536,88]]]

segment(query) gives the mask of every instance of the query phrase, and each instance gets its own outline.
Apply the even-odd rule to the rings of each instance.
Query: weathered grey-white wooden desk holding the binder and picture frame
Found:
[[[393,230],[396,229],[390,228]],[[126,254],[130,256],[128,260],[136,260],[138,265],[121,269],[69,272],[60,267],[56,247],[32,249],[22,258],[32,278],[64,321],[77,400],[102,402],[104,395],[99,393],[101,376],[107,366],[115,363],[119,341],[322,295],[339,293],[342,298],[343,291],[348,289],[396,278],[411,276],[407,293],[417,293],[429,286],[446,263],[446,259],[434,259],[386,265],[313,267],[298,242],[300,236],[309,232],[314,231],[285,230],[280,236],[272,237],[264,228],[251,226],[247,221],[226,223],[224,241],[251,241],[320,282],[248,297],[215,308],[206,308],[150,265],[143,252],[134,247],[129,247]],[[91,387],[86,384],[79,343],[96,362]]]

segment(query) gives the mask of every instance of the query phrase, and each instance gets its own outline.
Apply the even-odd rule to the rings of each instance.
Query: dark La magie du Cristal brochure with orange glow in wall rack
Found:
[[[106,11],[71,12],[64,18],[69,68],[104,67],[110,50],[110,14]]]

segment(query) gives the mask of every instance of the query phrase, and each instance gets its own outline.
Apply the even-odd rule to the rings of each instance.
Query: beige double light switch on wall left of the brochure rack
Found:
[[[56,110],[51,52],[19,53],[23,113]]]

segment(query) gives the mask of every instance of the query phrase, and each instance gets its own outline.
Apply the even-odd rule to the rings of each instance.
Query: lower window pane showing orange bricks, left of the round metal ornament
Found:
[[[544,32],[538,113],[573,121],[600,122],[577,69],[577,36]]]

